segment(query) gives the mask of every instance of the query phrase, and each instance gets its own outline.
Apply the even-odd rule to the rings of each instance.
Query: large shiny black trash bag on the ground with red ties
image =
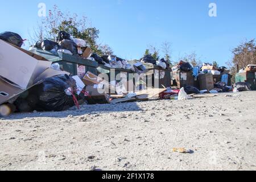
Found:
[[[67,94],[70,89],[76,90],[76,81],[68,75],[58,75],[46,78],[42,84],[34,86],[34,92],[39,101],[38,111],[62,111],[75,105],[73,96]]]

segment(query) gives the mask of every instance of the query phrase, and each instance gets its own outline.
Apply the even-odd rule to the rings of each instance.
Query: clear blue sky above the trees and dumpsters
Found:
[[[28,31],[40,20],[40,2],[47,10],[56,4],[63,11],[86,15],[100,30],[100,42],[125,59],[139,59],[148,45],[160,49],[167,41],[175,61],[196,52],[203,61],[225,65],[232,59],[232,48],[256,38],[255,0],[1,1],[0,32],[13,31],[29,39]],[[211,2],[217,5],[217,17],[208,15]]]

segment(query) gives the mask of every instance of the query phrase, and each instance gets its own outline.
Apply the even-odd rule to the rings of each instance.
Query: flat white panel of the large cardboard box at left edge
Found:
[[[37,78],[47,68],[51,67],[50,61],[38,60],[9,43],[0,40],[0,76],[13,82],[21,89],[34,84]]]

